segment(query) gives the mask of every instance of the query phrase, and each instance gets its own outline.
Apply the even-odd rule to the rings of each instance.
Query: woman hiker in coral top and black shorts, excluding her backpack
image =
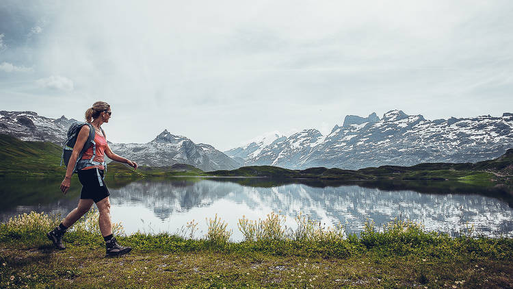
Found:
[[[86,121],[94,127],[94,145],[91,145],[89,149],[83,153],[81,160],[77,162],[80,151],[83,149],[88,136],[90,134],[89,125],[83,125],[77,136],[77,142],[73,147],[70,160],[68,162],[68,168],[66,170],[66,177],[61,184],[61,190],[66,194],[70,188],[71,175],[73,175],[74,166],[77,164],[77,174],[79,175],[80,183],[82,184],[82,191],[80,194],[79,204],[77,208],[71,211],[64,221],[60,223],[53,231],[47,234],[47,237],[53,242],[57,249],[66,249],[62,244],[62,236],[66,232],[68,227],[71,227],[76,221],[79,220],[83,214],[89,211],[93,203],[96,203],[100,216],[98,218],[98,225],[100,231],[105,240],[105,248],[107,256],[123,255],[131,251],[131,247],[122,247],[116,241],[116,238],[112,235],[112,226],[110,219],[110,201],[109,201],[109,190],[105,186],[103,181],[103,171],[105,169],[105,158],[117,162],[129,164],[133,168],[137,169],[137,164],[126,158],[122,158],[116,153],[113,153],[107,144],[107,138],[105,132],[101,129],[103,123],[108,123],[111,117],[110,105],[103,101],[96,101],[92,108],[86,111]]]

